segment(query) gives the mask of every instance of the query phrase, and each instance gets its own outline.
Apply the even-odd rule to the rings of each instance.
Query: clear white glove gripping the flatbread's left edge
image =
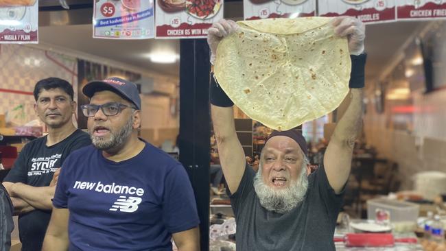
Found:
[[[238,29],[239,25],[232,20],[222,19],[217,23],[213,23],[207,30],[207,44],[211,49],[211,64],[214,64],[217,58],[218,43],[226,36],[233,34]]]

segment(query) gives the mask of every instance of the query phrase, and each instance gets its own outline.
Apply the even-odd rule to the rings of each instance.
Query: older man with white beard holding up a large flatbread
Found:
[[[259,171],[256,174],[246,164],[244,150],[237,139],[233,102],[225,93],[227,88],[222,90],[215,77],[211,77],[213,128],[228,195],[231,198],[237,222],[237,250],[335,250],[333,232],[336,218],[342,205],[344,186],[349,178],[355,137],[362,125],[362,89],[366,55],[364,54],[365,27],[363,23],[357,19],[342,16],[331,20],[329,25],[336,37],[347,38],[346,46],[349,49],[351,65],[345,64],[349,69],[341,70],[350,72],[351,67],[350,80],[347,80],[351,102],[331,136],[323,164],[311,174],[307,159],[307,144],[301,132],[279,131],[280,125],[276,128],[279,130],[272,132],[266,141],[261,152]],[[211,63],[219,57],[216,53],[220,41],[238,31],[239,25],[233,21],[221,20],[213,24],[208,34],[208,43],[212,52]],[[315,28],[314,32],[318,32],[318,28]],[[242,33],[244,32],[239,32],[237,36],[242,36]],[[249,43],[249,41],[246,39],[242,43]],[[307,40],[309,48],[317,42]],[[293,46],[295,48],[292,48]],[[292,49],[298,50],[303,47],[287,45],[287,51]],[[311,49],[308,50],[311,51]],[[269,52],[268,49],[266,52]],[[342,50],[340,53],[342,54]],[[260,61],[263,58],[257,58],[257,60]],[[333,60],[331,64],[339,64],[339,61]],[[328,67],[331,66],[328,65]],[[312,68],[316,68],[316,65]],[[297,69],[297,71],[303,70]],[[322,71],[319,73],[323,75]],[[261,76],[267,73],[258,74]],[[310,75],[309,80],[305,80],[303,84],[311,82],[312,78],[315,78],[314,75]],[[223,78],[217,79],[217,81],[220,80],[223,81]],[[268,86],[261,86],[264,83],[260,82],[257,87],[252,87],[256,84],[252,85],[250,92],[258,91],[255,88],[262,88],[264,92],[280,93],[277,90],[268,89]],[[284,82],[283,85],[285,84],[291,83]],[[329,83],[326,85],[329,86]],[[316,91],[326,92],[323,88],[318,88]],[[280,96],[277,95],[277,99],[286,95],[292,96],[295,93],[282,93]],[[330,91],[327,93],[327,98],[330,95],[335,94]],[[280,114],[281,111],[277,112]],[[290,119],[292,116],[292,114],[287,115]]]

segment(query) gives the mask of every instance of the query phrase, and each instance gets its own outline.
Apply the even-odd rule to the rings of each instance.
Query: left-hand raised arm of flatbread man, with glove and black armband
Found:
[[[234,21],[224,19],[213,23],[212,27],[209,28],[207,42],[211,49],[211,64],[215,61],[220,40],[235,32],[236,29],[237,25]],[[213,75],[209,90],[213,130],[217,141],[220,165],[222,165],[229,191],[235,193],[244,174],[246,159],[242,144],[240,144],[235,132],[233,102],[215,82]]]

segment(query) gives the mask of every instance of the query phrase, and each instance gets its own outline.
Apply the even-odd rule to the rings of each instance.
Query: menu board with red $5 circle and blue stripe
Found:
[[[153,0],[95,1],[93,38],[145,39],[153,37]]]

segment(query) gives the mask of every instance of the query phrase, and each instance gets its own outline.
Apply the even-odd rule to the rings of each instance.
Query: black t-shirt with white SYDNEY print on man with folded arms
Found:
[[[47,187],[54,172],[62,166],[71,152],[91,144],[88,134],[75,130],[55,145],[47,147],[47,136],[27,143],[16,159],[4,182],[22,182],[33,187]],[[22,250],[42,249],[43,238],[51,211],[36,209],[19,216],[19,234]]]

